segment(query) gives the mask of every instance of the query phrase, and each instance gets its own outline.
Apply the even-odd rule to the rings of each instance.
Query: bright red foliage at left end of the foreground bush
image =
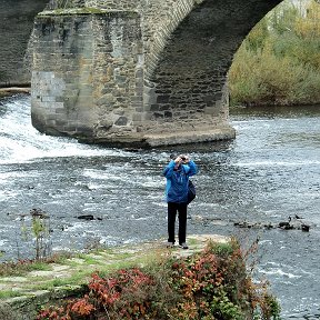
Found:
[[[116,313],[116,309],[121,319],[138,319],[146,313],[150,304],[143,296],[142,288],[152,286],[152,278],[138,268],[119,270],[112,278],[101,278],[96,273],[88,284],[89,294],[69,301],[62,308],[50,307],[41,311],[37,320],[90,319],[90,317],[93,319],[96,311],[103,313],[109,310],[111,313]],[[139,291],[142,292],[141,297],[139,297]]]

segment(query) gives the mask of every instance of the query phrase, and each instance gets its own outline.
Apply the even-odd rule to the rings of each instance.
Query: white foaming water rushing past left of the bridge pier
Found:
[[[42,158],[63,157],[126,157],[117,149],[78,143],[66,137],[50,137],[31,126],[30,97],[21,96],[2,102],[0,117],[0,164],[30,162]]]

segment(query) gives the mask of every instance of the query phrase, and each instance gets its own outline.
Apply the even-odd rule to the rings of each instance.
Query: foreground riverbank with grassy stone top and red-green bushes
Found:
[[[102,301],[104,301],[102,302],[102,310],[104,310],[106,308],[108,309],[109,307],[111,308],[109,310],[110,313],[108,313],[108,319],[132,319],[131,316],[128,313],[132,311],[132,306],[130,304],[132,302],[136,307],[141,307],[138,308],[139,310],[137,309],[134,311],[134,314],[139,313],[141,317],[137,318],[134,316],[134,319],[144,319],[144,316],[150,312],[149,309],[154,309],[154,304],[157,304],[158,307],[154,310],[152,309],[152,313],[153,316],[156,313],[157,314],[154,317],[151,316],[151,318],[148,316],[148,319],[169,319],[168,310],[170,309],[170,303],[172,304],[173,309],[170,309],[169,312],[170,314],[172,312],[174,313],[174,319],[184,319],[181,318],[181,314],[183,312],[188,312],[188,314],[190,314],[190,312],[193,312],[194,318],[192,319],[198,319],[199,317],[199,319],[202,319],[203,312],[207,312],[208,314],[219,313],[222,317],[221,319],[226,320],[238,319],[232,317],[238,317],[239,314],[252,316],[253,312],[257,312],[256,304],[259,304],[262,308],[262,311],[259,309],[259,312],[262,312],[263,316],[267,317],[263,319],[271,319],[271,317],[277,314],[277,312],[279,313],[279,306],[277,304],[274,297],[269,294],[268,291],[264,290],[266,288],[262,290],[263,294],[261,294],[261,284],[257,286],[257,282],[254,284],[253,282],[251,282],[251,274],[248,274],[248,271],[246,271],[246,261],[243,260],[246,253],[240,253],[240,247],[238,247],[234,240],[232,241],[228,237],[217,234],[193,234],[188,237],[188,242],[190,246],[190,250],[182,250],[179,248],[168,249],[166,247],[164,240],[157,242],[146,242],[142,244],[140,243],[133,246],[122,246],[113,248],[112,250],[98,250],[94,252],[88,252],[87,254],[77,254],[72,258],[62,260],[59,263],[48,263],[46,270],[33,270],[19,277],[1,277],[0,318],[7,320],[32,320],[37,318],[39,309],[42,309],[43,311],[39,313],[37,319],[58,319],[54,317],[58,317],[59,312],[61,313],[59,313],[60,316],[63,316],[63,312],[67,312],[69,317],[72,313],[70,319],[73,319],[72,317],[77,318],[79,314],[83,317],[83,310],[87,310],[87,317],[93,317],[94,314],[99,314],[99,303],[101,303],[101,301],[99,301],[99,297],[101,294],[100,290],[103,289],[103,286],[107,286],[103,290],[106,290],[107,296],[110,296],[110,299],[114,296],[113,298],[116,299],[117,297],[117,299],[119,300],[119,297],[123,294],[124,299],[128,299],[128,297],[129,300],[133,299],[133,301],[131,302],[124,300],[127,304],[129,303],[127,306],[128,310],[124,310],[126,308],[121,304],[123,301],[120,302],[120,304],[122,306],[121,310],[123,312],[126,311],[121,317],[119,316],[119,313],[114,313],[117,308],[117,299],[111,299],[113,301],[112,303],[116,303],[114,306],[111,306],[111,302],[109,300],[104,301],[102,299]],[[240,251],[238,251],[238,248]],[[161,273],[163,272],[162,269],[164,270],[163,274]],[[114,277],[112,274],[117,274],[117,272],[118,274],[120,274],[120,278],[122,274],[122,277],[126,277],[126,279],[128,276],[129,279],[131,279],[133,282],[137,280],[137,283],[133,283],[134,290],[129,296],[126,296],[126,292],[128,290],[130,291],[130,286],[132,286],[131,280],[129,281],[129,283],[127,281],[122,281],[123,279],[121,278],[122,280],[119,282],[119,286],[121,283],[123,288],[119,291],[119,293],[113,292],[114,290],[119,289],[118,287],[114,287],[118,289],[114,289],[113,287],[108,288],[110,283],[113,283],[112,281],[119,281],[118,278],[112,278]],[[137,274],[131,274],[131,272],[136,272]],[[173,273],[171,274],[171,272]],[[92,273],[97,276],[92,277]],[[154,274],[157,274],[158,280],[160,279],[160,287],[158,286],[159,283],[157,284],[157,277],[154,278]],[[108,278],[109,280],[103,280],[106,279],[103,277],[111,278]],[[138,277],[139,279],[136,279],[136,277]],[[171,279],[171,277],[173,278]],[[172,280],[177,283],[171,283]],[[97,281],[100,281],[99,286]],[[149,283],[149,281],[151,282]],[[187,286],[186,281],[188,283],[190,281],[191,282]],[[127,288],[128,283],[129,288]],[[98,296],[94,298],[94,288],[97,286],[100,289],[99,292],[97,292]],[[148,287],[150,288],[148,289]],[[190,287],[190,292],[187,290],[188,287]],[[154,291],[154,288],[157,288],[157,291]],[[164,290],[167,293],[162,292],[163,288],[167,288]],[[230,292],[228,288],[231,290]],[[146,292],[143,291],[146,296],[143,296],[143,292],[140,290],[147,290]],[[150,290],[151,293],[153,292],[153,294],[156,294],[154,297],[150,297]],[[186,290],[189,292],[188,294]],[[89,291],[91,292],[90,299],[88,296]],[[139,297],[134,296],[136,291],[140,292],[138,294]],[[141,297],[141,293],[144,298]],[[172,297],[170,294],[172,294]],[[233,294],[236,296],[232,298]],[[67,298],[70,299],[70,297],[76,296],[83,298],[77,298],[72,302],[70,302],[70,300],[66,300]],[[162,300],[168,299],[168,297],[169,299],[173,299],[174,297],[177,301],[167,301],[162,306]],[[202,298],[200,299],[200,297]],[[153,307],[150,307],[151,304],[149,304],[148,302],[148,299],[150,298]],[[97,299],[96,302],[94,299]],[[157,299],[160,299],[161,301],[159,302]],[[211,306],[206,304],[207,300],[208,303],[211,303]],[[63,302],[64,304],[67,303],[67,307],[63,304]],[[179,310],[179,308],[182,306],[181,303],[186,306],[181,310]],[[84,309],[81,309],[81,307],[79,307],[80,304]],[[191,304],[193,306],[191,308],[192,310],[187,310],[187,306],[190,307]],[[43,308],[43,306],[47,307]],[[57,307],[48,306],[59,306],[57,309],[59,311],[54,309]],[[71,313],[69,313],[68,311],[70,310],[68,306],[72,310]],[[76,306],[78,306],[80,309],[77,309],[78,307],[76,308]],[[91,308],[90,306],[94,306],[94,308]],[[164,312],[167,316],[164,318],[161,318],[159,314],[162,313],[163,307],[164,309],[168,307],[168,310],[166,309],[167,311]],[[66,309],[63,310],[63,308]],[[197,311],[198,308],[200,309]],[[76,309],[79,312],[74,311]],[[102,311],[102,313],[104,311]],[[199,314],[199,312],[202,316]],[[53,317],[53,314],[56,316]]]

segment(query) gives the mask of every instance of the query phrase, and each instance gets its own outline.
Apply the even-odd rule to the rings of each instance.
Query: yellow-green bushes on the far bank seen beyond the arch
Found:
[[[231,104],[320,103],[320,4],[287,0],[267,14],[238,50],[229,87]]]

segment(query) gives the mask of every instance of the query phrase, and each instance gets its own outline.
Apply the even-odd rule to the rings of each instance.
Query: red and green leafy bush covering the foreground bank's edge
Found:
[[[251,279],[236,240],[187,258],[93,274],[84,297],[41,310],[41,319],[280,319],[268,283]]]

